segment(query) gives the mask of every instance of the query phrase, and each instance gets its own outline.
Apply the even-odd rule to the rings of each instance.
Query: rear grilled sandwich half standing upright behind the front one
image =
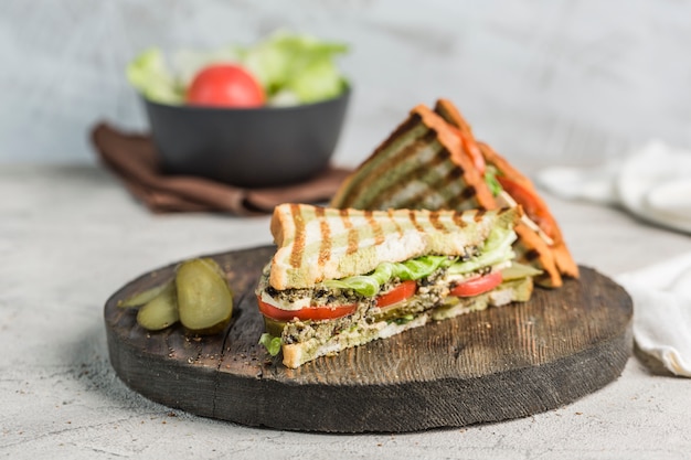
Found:
[[[488,145],[448,100],[418,105],[348,176],[330,206],[386,210],[497,210],[522,206],[515,225],[517,260],[542,274],[548,288],[578,277],[556,221],[535,188]]]

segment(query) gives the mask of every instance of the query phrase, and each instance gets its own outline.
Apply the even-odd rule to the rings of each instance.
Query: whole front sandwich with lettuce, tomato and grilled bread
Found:
[[[287,367],[489,306],[528,301],[520,206],[491,211],[276,206],[256,288],[263,343]]]

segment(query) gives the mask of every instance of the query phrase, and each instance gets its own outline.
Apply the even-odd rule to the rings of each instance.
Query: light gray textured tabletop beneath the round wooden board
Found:
[[[0,457],[684,458],[689,381],[640,353],[621,376],[532,417],[413,434],[323,435],[202,418],[130,391],[108,361],[103,307],[192,256],[270,243],[268,217],[149,213],[94,165],[0,167]],[[607,276],[691,250],[688,235],[545,195],[576,260]]]

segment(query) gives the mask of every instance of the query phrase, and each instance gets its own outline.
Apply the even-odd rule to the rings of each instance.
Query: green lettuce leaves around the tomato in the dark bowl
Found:
[[[331,99],[346,90],[348,81],[334,60],[348,51],[344,43],[280,31],[251,46],[181,50],[171,56],[170,64],[160,49],[151,47],[129,63],[126,75],[147,99],[181,105],[200,69],[213,63],[234,63],[257,78],[268,105],[299,105]]]

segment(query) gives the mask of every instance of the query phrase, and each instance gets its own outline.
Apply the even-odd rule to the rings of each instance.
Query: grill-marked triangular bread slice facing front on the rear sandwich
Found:
[[[333,207],[496,208],[457,130],[419,105],[355,172],[331,201]]]

